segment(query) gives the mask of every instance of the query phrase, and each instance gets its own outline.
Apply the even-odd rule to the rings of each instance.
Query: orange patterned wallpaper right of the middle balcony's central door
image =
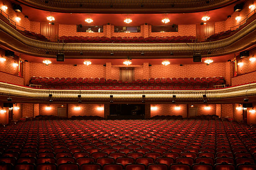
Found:
[[[152,65],[149,67],[149,77],[214,77],[225,76],[225,63],[206,64],[176,64]]]

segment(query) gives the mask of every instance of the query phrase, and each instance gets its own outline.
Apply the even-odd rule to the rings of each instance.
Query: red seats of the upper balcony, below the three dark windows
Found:
[[[83,37],[83,36],[62,36],[61,42],[195,42],[194,36],[166,36],[166,37]]]

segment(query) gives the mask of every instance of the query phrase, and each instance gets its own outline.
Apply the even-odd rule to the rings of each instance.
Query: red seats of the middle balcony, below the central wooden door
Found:
[[[98,90],[165,90],[165,89],[207,89],[215,85],[223,85],[224,77],[184,77],[184,78],[149,78],[149,80],[105,80],[102,78],[76,77],[31,77],[32,85],[41,85],[41,88],[56,89],[98,89]],[[221,86],[217,86],[220,88]]]

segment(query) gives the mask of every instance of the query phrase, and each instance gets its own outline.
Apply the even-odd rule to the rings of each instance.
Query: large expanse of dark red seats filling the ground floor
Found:
[[[40,120],[0,129],[1,170],[255,170],[256,127],[222,120]]]

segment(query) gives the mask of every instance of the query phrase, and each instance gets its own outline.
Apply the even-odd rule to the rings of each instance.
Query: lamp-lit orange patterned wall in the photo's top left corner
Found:
[[[16,12],[13,10],[12,4],[11,4],[9,1],[7,1],[7,0],[2,1],[2,0],[1,0],[1,1],[0,1],[0,6],[2,6],[3,3],[5,3],[5,5],[7,5],[7,7],[8,7],[8,9],[5,10],[4,12],[9,15],[9,18],[10,18],[11,20],[13,20],[13,21],[16,23],[16,25],[18,25],[18,26],[20,26],[20,27],[23,27],[23,28],[20,28],[20,27],[17,26],[17,29],[24,31],[24,28],[25,28],[26,30],[30,31],[30,21],[28,20],[28,18],[25,18],[25,15],[23,15],[23,13],[16,13]],[[5,15],[5,16],[6,16],[6,15]],[[20,20],[19,22],[17,22],[17,21],[15,20],[16,17],[20,17],[21,20]],[[11,23],[14,24],[12,21],[11,21]]]

